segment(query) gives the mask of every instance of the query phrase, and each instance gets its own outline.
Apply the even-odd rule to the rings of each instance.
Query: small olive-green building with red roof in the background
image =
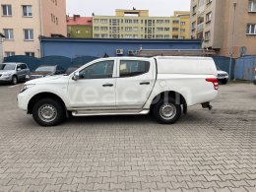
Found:
[[[93,38],[93,18],[74,15],[67,16],[68,37]]]

